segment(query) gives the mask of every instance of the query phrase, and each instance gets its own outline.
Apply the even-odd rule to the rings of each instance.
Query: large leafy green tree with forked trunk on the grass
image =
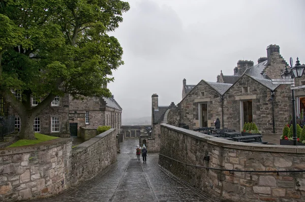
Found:
[[[111,95],[101,86],[124,62],[123,49],[107,33],[129,8],[119,0],[0,2],[0,94],[20,116],[20,138],[35,139],[34,119],[55,95]],[[43,97],[36,107],[32,96]]]

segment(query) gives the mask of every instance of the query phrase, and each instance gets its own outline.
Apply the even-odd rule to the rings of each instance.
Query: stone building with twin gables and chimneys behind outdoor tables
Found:
[[[221,127],[241,130],[245,122],[255,122],[262,133],[280,133],[292,115],[290,85],[275,85],[271,79],[281,78],[288,66],[278,45],[267,47],[267,57],[258,64],[239,60],[233,75],[217,76],[217,82],[200,81],[182,85],[178,106],[179,125],[214,126],[217,117]],[[296,86],[305,84],[305,77],[295,79]],[[190,88],[189,88],[190,86]],[[193,87],[192,87],[193,86]],[[305,91],[295,90],[296,114],[305,107]]]

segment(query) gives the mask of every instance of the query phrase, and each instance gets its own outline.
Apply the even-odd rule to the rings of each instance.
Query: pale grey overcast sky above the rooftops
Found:
[[[126,1],[126,0],[125,0]],[[239,59],[257,64],[270,44],[289,62],[305,63],[303,0],[130,0],[115,36],[125,65],[108,85],[123,119],[151,115],[151,95],[159,106],[181,101],[182,80],[216,82],[233,75]]]

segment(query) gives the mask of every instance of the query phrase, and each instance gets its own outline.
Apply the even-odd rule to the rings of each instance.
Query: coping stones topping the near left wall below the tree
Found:
[[[10,154],[20,154],[25,152],[33,152],[38,150],[51,149],[59,145],[72,142],[70,138],[57,138],[54,140],[45,141],[35,145],[25,145],[19,147],[9,147],[9,148],[0,148],[0,156],[10,155]]]

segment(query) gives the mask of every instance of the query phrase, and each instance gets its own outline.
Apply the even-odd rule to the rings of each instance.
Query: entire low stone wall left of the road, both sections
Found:
[[[116,131],[109,129],[72,150],[72,140],[0,149],[0,201],[56,195],[116,161]]]

